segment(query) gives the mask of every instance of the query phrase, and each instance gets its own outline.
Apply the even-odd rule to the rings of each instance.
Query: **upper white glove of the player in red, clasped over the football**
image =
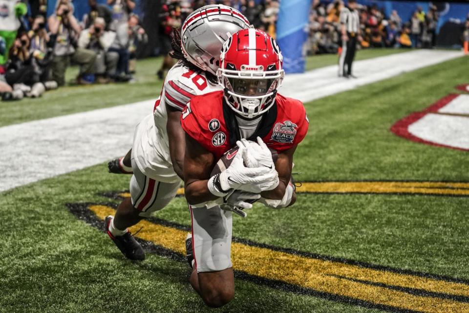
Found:
[[[272,152],[260,137],[257,137],[257,143],[243,138],[237,141],[236,145],[245,148],[243,159],[247,167],[265,166],[275,168]]]

